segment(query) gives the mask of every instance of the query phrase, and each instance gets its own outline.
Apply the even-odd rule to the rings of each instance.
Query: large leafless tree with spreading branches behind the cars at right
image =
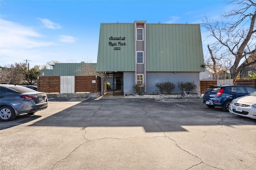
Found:
[[[235,79],[242,69],[256,64],[256,3],[252,0],[234,0],[230,4],[234,5],[234,9],[222,14],[222,20],[205,17],[202,26],[209,33],[208,38],[214,37],[216,40],[210,46],[216,50],[214,53],[219,55],[218,58],[224,56],[232,61],[230,76]],[[230,18],[235,22],[223,21]]]

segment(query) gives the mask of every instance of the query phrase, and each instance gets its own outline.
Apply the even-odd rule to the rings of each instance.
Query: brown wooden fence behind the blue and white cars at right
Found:
[[[237,85],[247,85],[256,87],[256,79],[239,79],[236,81]],[[200,91],[205,91],[210,86],[216,86],[217,80],[202,80],[200,81]]]

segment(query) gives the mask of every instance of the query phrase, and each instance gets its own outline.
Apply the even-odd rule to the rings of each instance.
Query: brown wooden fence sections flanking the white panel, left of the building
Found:
[[[74,92],[101,91],[101,78],[99,76],[74,76],[75,82],[68,82],[73,86]],[[73,85],[72,85],[73,83]],[[40,76],[38,79],[38,91],[45,93],[60,93],[60,76]],[[63,87],[62,87],[63,88]]]

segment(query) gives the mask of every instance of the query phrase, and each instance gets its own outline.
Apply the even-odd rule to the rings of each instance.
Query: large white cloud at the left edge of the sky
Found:
[[[39,41],[38,39],[43,36],[32,27],[3,19],[0,19],[0,23],[1,49],[29,49],[56,44],[48,41]]]

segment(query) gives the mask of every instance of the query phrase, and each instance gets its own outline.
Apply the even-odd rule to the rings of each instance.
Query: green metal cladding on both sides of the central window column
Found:
[[[146,23],[148,72],[200,72],[202,64],[199,24]],[[96,71],[134,70],[134,23],[101,23]]]

